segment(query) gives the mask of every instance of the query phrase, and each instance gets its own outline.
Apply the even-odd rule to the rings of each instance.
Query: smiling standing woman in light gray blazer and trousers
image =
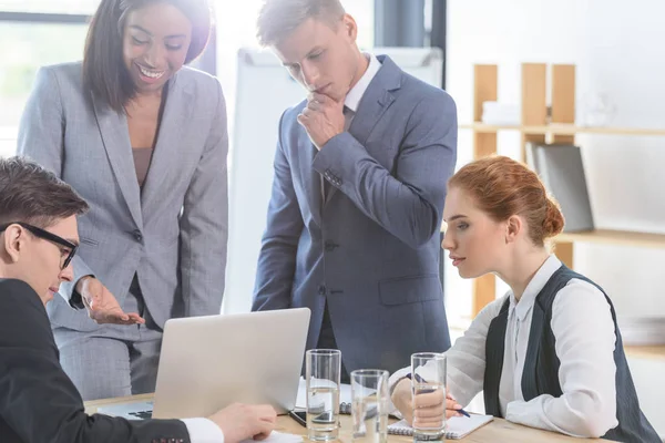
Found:
[[[91,206],[48,309],[85,400],[153,391],[164,322],[219,312],[226,107],[216,79],[184,66],[209,29],[206,0],[102,0],[83,62],[42,68],[24,110],[19,153]]]

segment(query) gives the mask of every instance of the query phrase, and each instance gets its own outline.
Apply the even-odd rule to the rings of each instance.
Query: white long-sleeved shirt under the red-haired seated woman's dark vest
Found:
[[[616,334],[610,303],[595,286],[571,279],[552,306],[551,328],[561,362],[559,382],[563,395],[543,394],[524,401],[522,371],[529,343],[533,303],[561,261],[550,256],[518,301],[512,291],[494,300],[473,319],[469,330],[446,354],[448,389],[457,401],[468,404],[483,388],[485,339],[490,322],[510,299],[499,403],[503,416],[514,423],[573,436],[601,436],[618,424],[616,420]],[[392,387],[410,372],[405,368],[390,378]],[[422,374],[427,375],[423,371]]]

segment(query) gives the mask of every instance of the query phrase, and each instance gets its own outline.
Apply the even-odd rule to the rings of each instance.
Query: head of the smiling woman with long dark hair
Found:
[[[122,111],[136,93],[160,91],[183,64],[196,59],[209,32],[205,0],[102,1],[88,33],[83,81]]]

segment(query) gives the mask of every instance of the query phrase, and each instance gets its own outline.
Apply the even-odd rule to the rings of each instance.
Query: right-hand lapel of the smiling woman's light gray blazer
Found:
[[[168,83],[155,148],[143,184],[141,200],[145,213],[151,213],[151,205],[164,197],[164,190],[173,182],[170,174],[178,173],[176,165],[182,155],[183,122],[190,121],[193,103],[191,91],[182,87],[176,74]]]

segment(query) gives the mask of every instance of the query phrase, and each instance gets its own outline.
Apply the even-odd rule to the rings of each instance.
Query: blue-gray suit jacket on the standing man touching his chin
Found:
[[[348,371],[395,371],[413,352],[450,347],[439,231],[457,110],[444,91],[379,61],[349,131],[320,152],[296,121],[306,103],[284,113],[253,307],[310,308],[311,349],[327,300]]]

